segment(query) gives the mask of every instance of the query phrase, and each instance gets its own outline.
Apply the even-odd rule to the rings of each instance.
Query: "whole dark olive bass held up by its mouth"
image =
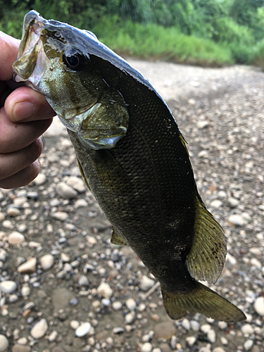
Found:
[[[244,313],[215,283],[227,255],[203,203],[187,142],[146,78],[87,30],[25,15],[14,80],[46,97],[68,130],[80,172],[113,226],[161,284],[165,310],[225,322]]]

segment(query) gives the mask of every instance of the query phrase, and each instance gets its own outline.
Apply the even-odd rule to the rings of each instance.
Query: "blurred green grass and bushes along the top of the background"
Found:
[[[92,30],[121,55],[195,65],[264,62],[264,0],[0,0],[0,30],[20,38],[34,8]]]

